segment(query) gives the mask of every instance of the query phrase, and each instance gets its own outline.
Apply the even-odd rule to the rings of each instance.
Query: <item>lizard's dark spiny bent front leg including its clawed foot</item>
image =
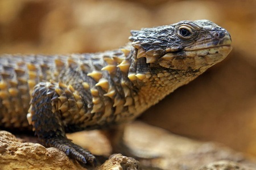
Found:
[[[27,118],[33,125],[33,130],[39,140],[46,146],[58,148],[82,163],[94,164],[95,157],[88,150],[72,143],[65,135],[67,122],[64,114],[67,111],[69,111],[68,113],[77,112],[76,108],[79,110],[83,107],[79,101],[76,101],[75,94],[76,91],[72,86],[67,87],[62,83],[55,82],[41,82],[35,86],[32,92],[30,113]]]

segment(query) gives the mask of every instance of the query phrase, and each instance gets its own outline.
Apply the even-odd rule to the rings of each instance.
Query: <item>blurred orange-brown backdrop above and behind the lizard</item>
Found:
[[[88,53],[119,48],[131,29],[208,19],[233,50],[140,120],[256,156],[255,0],[1,0],[0,53]]]

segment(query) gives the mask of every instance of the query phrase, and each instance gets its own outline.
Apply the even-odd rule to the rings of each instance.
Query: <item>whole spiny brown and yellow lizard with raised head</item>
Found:
[[[31,129],[93,164],[66,133],[130,122],[232,50],[229,32],[209,20],[142,28],[129,40],[100,53],[0,56],[0,127]]]

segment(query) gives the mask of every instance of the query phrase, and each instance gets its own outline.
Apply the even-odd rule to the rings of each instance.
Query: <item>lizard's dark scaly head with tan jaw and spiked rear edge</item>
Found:
[[[150,66],[196,70],[222,61],[232,47],[229,32],[209,20],[181,21],[172,25],[131,31],[129,40],[137,58]]]

